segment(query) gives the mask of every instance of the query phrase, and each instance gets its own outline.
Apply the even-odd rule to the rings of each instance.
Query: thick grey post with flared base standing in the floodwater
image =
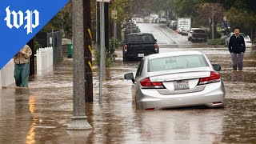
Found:
[[[86,117],[83,0],[72,0],[73,33],[73,117],[67,130],[90,130]]]

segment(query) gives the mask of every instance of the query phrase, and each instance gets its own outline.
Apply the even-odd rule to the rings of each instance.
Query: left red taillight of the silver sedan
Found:
[[[144,78],[141,80],[142,89],[164,89],[165,86],[162,85],[162,82],[151,82],[150,78]]]

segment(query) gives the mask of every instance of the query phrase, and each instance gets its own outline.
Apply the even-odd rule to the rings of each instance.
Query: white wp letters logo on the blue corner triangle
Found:
[[[25,17],[24,17],[25,15]],[[24,29],[26,29],[26,34],[32,33],[33,29],[39,26],[39,12],[38,10],[26,10],[25,14],[19,10],[18,13],[10,11],[10,6],[6,7],[6,26],[10,29],[16,27],[19,29],[23,24],[25,24]]]

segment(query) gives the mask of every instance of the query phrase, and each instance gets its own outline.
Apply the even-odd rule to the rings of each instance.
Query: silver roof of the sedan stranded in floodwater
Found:
[[[165,58],[170,56],[180,56],[180,55],[203,55],[201,51],[197,50],[189,50],[189,51],[173,51],[168,53],[161,53],[161,54],[150,54],[144,58],[146,59],[154,59],[154,58]]]

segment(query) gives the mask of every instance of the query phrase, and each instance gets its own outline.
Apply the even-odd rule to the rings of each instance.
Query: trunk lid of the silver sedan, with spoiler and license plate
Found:
[[[198,86],[199,78],[210,77],[210,67],[198,67],[180,70],[150,72],[151,82],[162,82],[166,89],[158,89],[160,94],[182,94],[201,91],[205,86]]]

